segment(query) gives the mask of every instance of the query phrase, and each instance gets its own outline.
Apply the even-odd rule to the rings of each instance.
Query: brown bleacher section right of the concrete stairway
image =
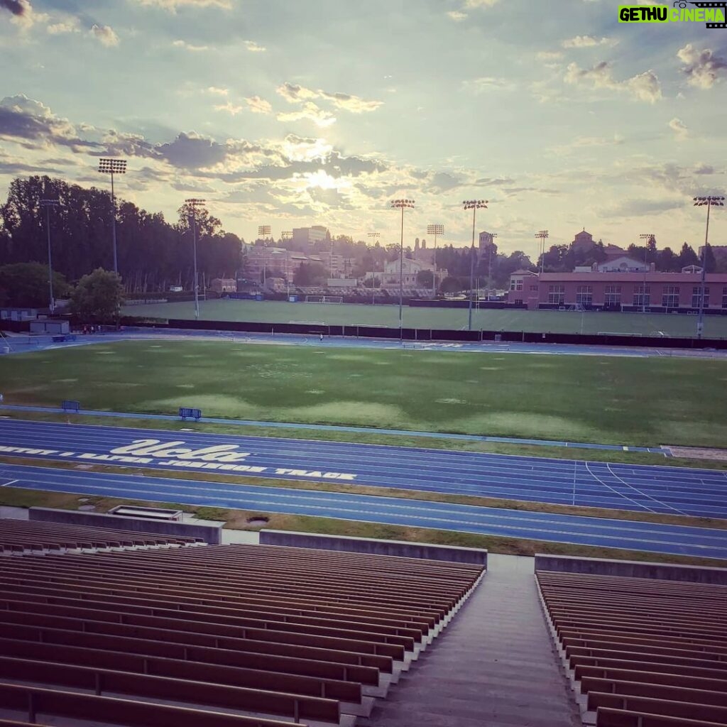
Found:
[[[727,724],[727,586],[536,577],[586,724]]]

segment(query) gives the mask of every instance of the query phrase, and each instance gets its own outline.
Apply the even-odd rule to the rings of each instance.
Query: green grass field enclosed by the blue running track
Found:
[[[0,358],[5,403],[658,446],[727,443],[720,359],[132,340]]]

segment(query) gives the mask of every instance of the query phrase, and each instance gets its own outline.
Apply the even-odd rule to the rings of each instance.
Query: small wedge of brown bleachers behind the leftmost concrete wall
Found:
[[[201,540],[133,530],[99,529],[65,523],[0,520],[0,555],[65,553],[71,550],[137,549],[200,545]]]

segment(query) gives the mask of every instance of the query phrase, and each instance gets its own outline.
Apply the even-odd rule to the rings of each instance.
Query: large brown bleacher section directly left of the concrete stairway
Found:
[[[0,558],[0,720],[353,725],[482,575],[259,545]]]

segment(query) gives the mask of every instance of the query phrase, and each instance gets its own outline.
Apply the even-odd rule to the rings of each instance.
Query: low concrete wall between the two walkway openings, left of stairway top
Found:
[[[261,530],[260,545],[343,550],[348,553],[369,553],[369,555],[398,555],[400,558],[425,558],[430,561],[449,561],[451,563],[468,563],[487,567],[487,551],[480,548],[429,545],[427,543],[410,543],[401,540],[377,540],[374,538],[353,538],[345,535],[317,535],[285,530]]]

